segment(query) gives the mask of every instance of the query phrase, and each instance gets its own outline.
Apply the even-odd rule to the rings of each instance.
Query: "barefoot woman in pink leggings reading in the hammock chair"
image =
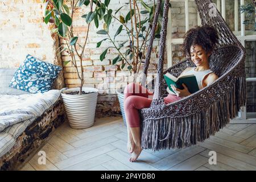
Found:
[[[199,89],[217,80],[218,76],[210,70],[209,56],[218,41],[217,32],[212,27],[192,28],[185,34],[183,49],[186,56],[193,61],[196,67],[185,69],[180,76],[195,75]],[[179,77],[180,77],[179,76]],[[175,95],[167,88],[168,96],[164,97],[165,104],[180,100],[191,95],[186,85],[184,89],[172,86]],[[154,93],[149,92],[139,84],[128,84],[124,90],[124,109],[127,121],[128,143],[127,149],[131,154],[130,162],[135,162],[141,154],[141,121],[139,109],[150,107]]]

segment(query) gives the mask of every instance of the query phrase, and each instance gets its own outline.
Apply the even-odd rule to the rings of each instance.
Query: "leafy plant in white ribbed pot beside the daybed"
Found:
[[[52,23],[51,31],[63,39],[65,45],[61,45],[57,51],[59,53],[68,53],[71,60],[64,61],[64,65],[72,64],[75,67],[80,80],[79,88],[61,89],[65,110],[67,112],[69,125],[74,129],[84,129],[90,127],[94,123],[94,115],[97,104],[98,89],[86,88],[84,84],[84,69],[82,67],[82,58],[89,34],[89,27],[92,21],[98,27],[98,1],[90,0],[71,0],[68,6],[63,0],[44,0],[46,3],[44,22]],[[108,2],[108,1],[107,1]],[[88,24],[88,31],[85,40],[79,38],[73,33],[73,15],[81,6],[89,6],[88,14],[82,15]],[[80,43],[84,41],[81,45]],[[77,57],[79,60],[77,60]]]

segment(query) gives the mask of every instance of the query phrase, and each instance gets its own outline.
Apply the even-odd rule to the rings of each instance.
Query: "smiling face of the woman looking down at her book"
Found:
[[[190,48],[191,60],[195,63],[196,67],[209,67],[209,56],[203,47],[199,45],[191,46]]]

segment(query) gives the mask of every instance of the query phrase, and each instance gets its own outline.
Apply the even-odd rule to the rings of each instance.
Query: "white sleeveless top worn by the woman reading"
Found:
[[[198,84],[199,89],[203,89],[203,80],[205,76],[209,75],[210,73],[213,73],[210,69],[204,70],[204,71],[195,71],[196,67],[193,67],[192,69],[188,69],[188,71],[185,71],[182,76],[185,75],[195,75],[196,76],[196,81]],[[167,92],[170,94],[174,94],[171,92],[171,90],[167,86]]]

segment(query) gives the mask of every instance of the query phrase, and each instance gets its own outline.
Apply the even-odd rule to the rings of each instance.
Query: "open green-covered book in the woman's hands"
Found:
[[[174,85],[178,89],[184,89],[182,84],[185,84],[190,93],[195,93],[199,90],[199,86],[197,84],[195,75],[184,75],[179,78],[176,78],[175,76],[171,75],[170,73],[166,73],[166,74],[164,74],[164,79],[166,79],[168,88],[174,94],[175,94],[175,92],[174,92],[174,90],[172,90],[171,85]]]

